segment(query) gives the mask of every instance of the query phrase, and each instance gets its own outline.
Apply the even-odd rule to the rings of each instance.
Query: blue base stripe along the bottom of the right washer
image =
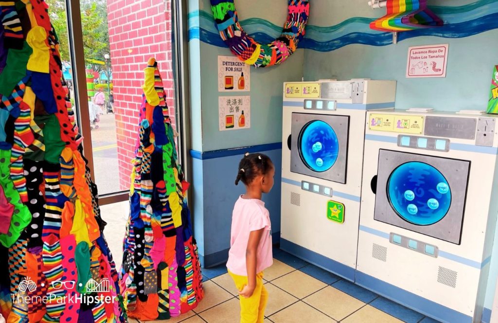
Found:
[[[433,301],[405,291],[360,271],[356,272],[356,283],[396,303],[414,309],[445,323],[472,323],[472,318]]]

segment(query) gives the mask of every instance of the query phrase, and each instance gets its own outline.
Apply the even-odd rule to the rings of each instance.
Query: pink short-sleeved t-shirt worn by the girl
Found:
[[[248,276],[246,266],[246,250],[251,231],[264,228],[257,248],[256,274],[273,264],[271,251],[270,213],[264,207],[264,202],[258,199],[239,197],[232,214],[232,233],[227,268],[233,274]]]

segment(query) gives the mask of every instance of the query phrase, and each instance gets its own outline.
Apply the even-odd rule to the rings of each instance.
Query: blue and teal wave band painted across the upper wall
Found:
[[[437,36],[462,38],[498,28],[498,1],[479,0],[471,4],[441,7],[433,6],[444,21],[443,27],[419,29],[398,34],[398,40]],[[300,48],[316,51],[331,51],[350,44],[386,46],[392,44],[392,35],[370,29],[373,18],[352,17],[334,26],[308,25]],[[246,32],[260,43],[269,43],[280,35],[281,27],[267,20],[251,18],[241,21]],[[205,11],[189,13],[189,40],[201,41],[219,47],[226,47],[215,27],[213,16]]]

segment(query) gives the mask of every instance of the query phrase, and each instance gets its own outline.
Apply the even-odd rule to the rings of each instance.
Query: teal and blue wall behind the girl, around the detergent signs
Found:
[[[254,4],[264,4],[261,11]],[[278,3],[277,3],[278,2]],[[258,17],[283,25],[287,4],[280,1],[238,1],[241,20]],[[250,93],[232,92],[230,95],[250,95],[251,128],[237,131],[219,131],[218,56],[232,55],[220,43],[214,28],[209,0],[189,1],[189,61],[191,82],[191,124],[194,183],[194,230],[199,245],[201,263],[212,266],[227,260],[230,248],[232,209],[244,187],[235,186],[238,164],[246,151],[269,155],[276,168],[275,183],[280,182],[282,141],[282,88],[286,81],[300,81],[303,76],[304,50],[298,49],[285,66],[255,69],[251,67]],[[210,29],[213,45],[203,39],[203,30]],[[250,24],[249,33],[258,29]],[[279,36],[281,27],[270,34]],[[265,144],[272,144],[266,145]],[[239,149],[233,151],[233,149]],[[228,150],[231,150],[227,153]],[[264,197],[270,210],[275,240],[280,231],[280,187],[275,185]]]

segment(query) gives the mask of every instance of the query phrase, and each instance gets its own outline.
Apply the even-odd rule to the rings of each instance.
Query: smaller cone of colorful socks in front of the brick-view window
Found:
[[[184,202],[188,183],[178,163],[155,59],[144,74],[120,278],[128,317],[168,320],[196,308],[204,291]]]

